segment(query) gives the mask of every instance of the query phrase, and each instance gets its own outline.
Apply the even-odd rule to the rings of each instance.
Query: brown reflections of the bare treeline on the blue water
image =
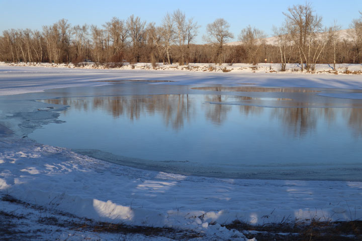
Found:
[[[218,87],[214,88],[219,89]],[[223,102],[227,101],[227,97],[226,95],[204,95],[204,101]],[[252,99],[246,96],[233,96],[232,98],[235,98],[236,101]],[[88,111],[89,108],[103,109],[114,117],[126,115],[132,121],[139,119],[142,114],[152,115],[159,112],[166,126],[171,125],[173,129],[182,128],[185,121],[190,121],[191,117],[196,116],[194,100],[189,98],[187,94],[162,94],[151,97],[140,95],[93,98],[64,97],[48,99],[45,102],[70,105],[75,109],[84,111]],[[228,104],[203,104],[202,107],[205,109],[206,118],[217,125],[222,125],[232,110],[232,105]],[[245,116],[260,114],[265,109],[252,105],[239,105],[238,108]],[[318,119],[322,117],[328,124],[334,123],[339,112],[337,110],[336,108],[273,108],[271,117],[278,118],[289,134],[303,136],[315,130]],[[362,136],[362,109],[343,108],[340,113],[346,123],[345,125],[349,125],[356,135]]]

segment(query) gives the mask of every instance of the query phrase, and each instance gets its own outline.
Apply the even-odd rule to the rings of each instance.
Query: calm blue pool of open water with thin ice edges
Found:
[[[133,81],[55,89],[47,96],[69,97],[41,101],[69,105],[63,123],[29,137],[147,170],[362,181],[362,100],[319,95],[338,91]]]

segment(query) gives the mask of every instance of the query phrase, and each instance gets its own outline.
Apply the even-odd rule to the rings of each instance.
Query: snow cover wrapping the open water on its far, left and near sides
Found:
[[[358,75],[0,66],[0,194],[77,217],[173,227],[204,235],[197,240],[247,240],[242,233],[220,225],[234,220],[263,224],[286,219],[335,221],[362,218],[361,182],[216,179],[144,171],[23,138],[32,129],[57,121],[54,110],[63,106],[50,106],[35,102],[29,96],[24,99],[22,95],[13,94],[96,86],[109,82],[95,81],[129,79],[175,81],[162,84],[183,85],[253,84],[362,89],[362,78]],[[353,94],[356,93],[342,97]],[[19,205],[5,200],[0,201],[0,211],[34,213],[34,210],[19,208]],[[68,234],[72,235],[70,239],[117,239],[111,234],[95,236],[68,229],[49,231],[42,238],[65,239]],[[145,237],[130,234],[127,238],[142,240]]]

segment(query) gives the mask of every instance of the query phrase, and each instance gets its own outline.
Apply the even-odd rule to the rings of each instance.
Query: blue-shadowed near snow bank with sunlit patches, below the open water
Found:
[[[241,220],[362,217],[362,183],[216,179],[143,171],[31,140],[0,143],[0,189],[78,216],[131,225],[208,229]]]

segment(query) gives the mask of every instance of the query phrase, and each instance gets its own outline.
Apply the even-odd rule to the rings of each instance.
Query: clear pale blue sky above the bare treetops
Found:
[[[330,26],[334,20],[342,29],[347,29],[352,19],[359,18],[362,12],[362,0],[315,0],[310,1],[317,14],[323,17],[323,24]],[[237,41],[241,29],[248,25],[263,30],[267,36],[273,35],[273,25],[279,27],[288,7],[304,4],[295,0],[0,0],[0,33],[7,29],[41,30],[43,25],[51,25],[64,18],[71,25],[102,26],[112,17],[126,20],[134,14],[141,20],[160,24],[163,16],[176,9],[185,12],[186,17],[194,17],[201,26],[197,43],[203,43],[202,35],[206,25],[217,18],[224,18],[230,23],[230,31]]]

